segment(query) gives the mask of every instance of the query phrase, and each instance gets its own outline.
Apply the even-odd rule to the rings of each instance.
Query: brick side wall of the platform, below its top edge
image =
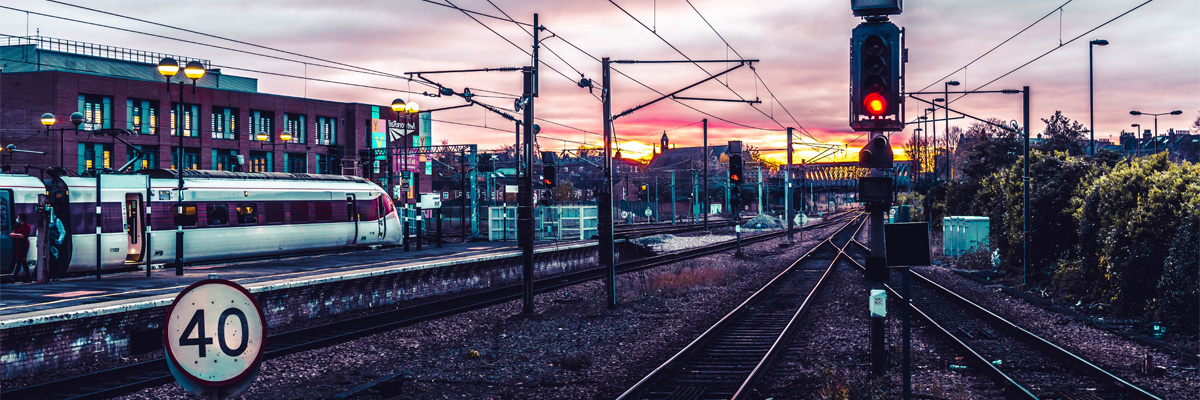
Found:
[[[595,267],[595,245],[535,253],[535,276]],[[449,265],[383,267],[355,275],[306,276],[247,287],[266,315],[268,333],[346,312],[415,305],[521,282],[520,252]],[[58,371],[162,350],[162,322],[174,297],[137,304],[80,306],[0,329],[2,380]]]

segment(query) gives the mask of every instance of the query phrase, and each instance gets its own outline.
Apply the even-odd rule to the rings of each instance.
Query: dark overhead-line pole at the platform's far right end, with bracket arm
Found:
[[[604,96],[602,119],[604,121],[604,181],[600,186],[600,198],[598,201],[600,214],[600,264],[605,271],[605,293],[607,294],[608,309],[617,308],[617,261],[612,247],[612,91],[608,77],[608,58],[600,60],[602,79],[601,95]]]

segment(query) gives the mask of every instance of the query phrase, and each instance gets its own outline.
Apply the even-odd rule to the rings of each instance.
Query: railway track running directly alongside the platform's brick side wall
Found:
[[[827,221],[812,225],[808,229],[823,228],[845,222],[847,214],[829,217]],[[743,238],[743,245],[766,241],[786,235],[786,232],[764,233]],[[734,240],[722,241],[700,249],[647,257],[619,263],[617,273],[624,274],[665,265],[683,259],[703,257],[736,249]],[[539,277],[534,282],[536,293],[556,291],[563,287],[583,283],[605,276],[604,268],[586,269],[577,273]],[[348,318],[329,324],[280,333],[269,336],[263,354],[264,360],[293,354],[312,348],[332,346],[376,333],[388,332],[421,321],[440,318],[460,312],[476,310],[522,298],[521,285],[510,285],[475,293],[467,293],[425,304],[416,304],[380,314]],[[113,369],[95,371],[64,380],[32,384],[23,388],[5,389],[0,396],[11,399],[106,399],[132,393],[143,388],[170,383],[174,377],[167,369],[164,358],[139,362]]]

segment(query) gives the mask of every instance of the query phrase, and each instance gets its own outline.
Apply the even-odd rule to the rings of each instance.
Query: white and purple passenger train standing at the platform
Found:
[[[17,214],[36,226],[38,195],[67,234],[55,261],[34,263],[35,232],[26,258],[58,276],[174,263],[179,229],[185,264],[403,243],[391,198],[359,177],[185,169],[180,190],[178,173],[55,177],[49,185],[0,174],[0,274],[13,273]]]

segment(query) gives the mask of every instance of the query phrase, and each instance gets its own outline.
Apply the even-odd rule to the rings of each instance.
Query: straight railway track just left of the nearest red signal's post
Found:
[[[785,347],[796,321],[822,287],[842,249],[862,228],[856,217],[696,340],[671,357],[619,399],[737,399]]]

